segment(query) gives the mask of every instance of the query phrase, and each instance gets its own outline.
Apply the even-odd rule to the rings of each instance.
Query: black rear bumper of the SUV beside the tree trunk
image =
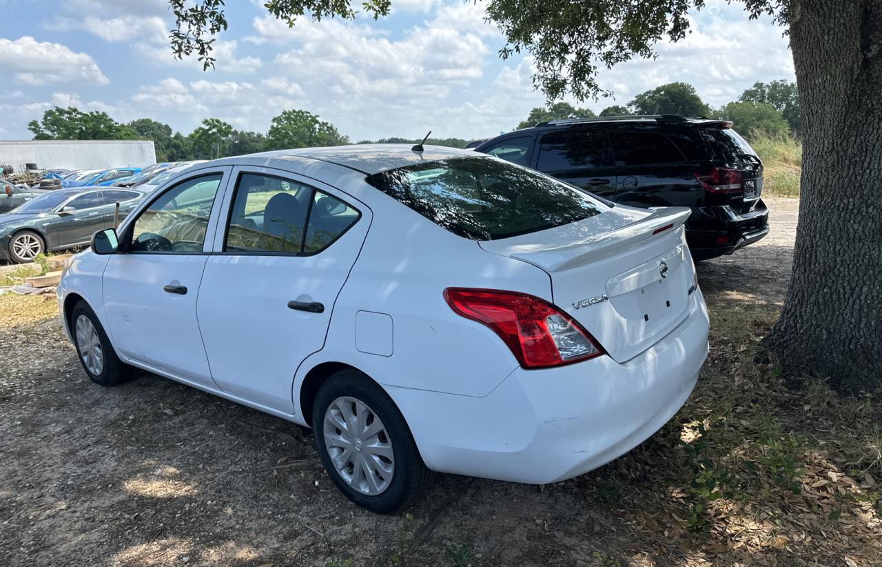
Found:
[[[686,241],[692,257],[710,260],[765,238],[769,232],[768,215],[762,200],[741,214],[730,207],[692,208],[686,223]]]

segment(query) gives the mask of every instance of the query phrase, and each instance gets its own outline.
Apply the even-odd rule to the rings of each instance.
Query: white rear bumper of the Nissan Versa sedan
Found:
[[[676,329],[622,364],[602,356],[518,368],[481,398],[389,393],[432,470],[531,484],[569,479],[632,450],[683,406],[707,356],[700,291],[691,302]]]

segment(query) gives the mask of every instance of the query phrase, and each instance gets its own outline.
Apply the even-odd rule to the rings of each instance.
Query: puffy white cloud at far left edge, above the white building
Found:
[[[37,42],[29,35],[15,41],[0,38],[0,72],[14,72],[24,85],[90,82],[106,85],[109,80],[94,59],[66,45]]]

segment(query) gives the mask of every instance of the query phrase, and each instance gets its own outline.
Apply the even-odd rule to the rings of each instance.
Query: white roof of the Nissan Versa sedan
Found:
[[[412,148],[412,144],[354,144],[352,146],[282,149],[250,154],[248,157],[307,158],[334,163],[350,170],[360,171],[365,175],[371,175],[415,163],[434,162],[452,157],[475,157],[477,155],[471,150],[457,147],[426,145],[422,152],[415,152]],[[226,163],[228,160],[233,164],[237,162],[237,158],[231,157],[218,160],[217,163]]]

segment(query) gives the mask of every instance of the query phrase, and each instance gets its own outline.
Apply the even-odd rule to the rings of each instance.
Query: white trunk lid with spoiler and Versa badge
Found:
[[[617,362],[644,352],[688,313],[689,208],[617,206],[547,231],[480,242],[548,272],[552,300]]]

